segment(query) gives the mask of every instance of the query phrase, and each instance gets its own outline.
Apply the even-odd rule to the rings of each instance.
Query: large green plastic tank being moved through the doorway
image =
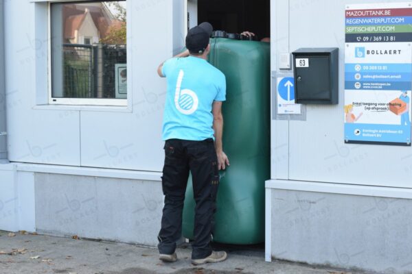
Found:
[[[223,150],[230,166],[220,171],[214,242],[264,242],[264,182],[270,178],[270,45],[212,38],[209,62],[225,73],[227,101]],[[183,236],[193,239],[192,180],[187,184]]]

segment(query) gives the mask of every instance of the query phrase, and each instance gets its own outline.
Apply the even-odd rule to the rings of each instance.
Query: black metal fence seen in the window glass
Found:
[[[63,97],[115,98],[115,64],[126,64],[126,45],[63,45]]]

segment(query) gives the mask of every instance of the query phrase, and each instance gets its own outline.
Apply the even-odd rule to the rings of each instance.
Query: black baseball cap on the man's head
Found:
[[[189,29],[186,36],[186,48],[190,53],[203,53],[209,45],[211,32],[213,32],[213,27],[207,22]]]

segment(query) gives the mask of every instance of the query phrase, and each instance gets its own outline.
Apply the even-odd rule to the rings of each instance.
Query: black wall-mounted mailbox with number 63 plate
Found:
[[[293,52],[295,102],[333,105],[339,101],[339,49],[303,48]]]

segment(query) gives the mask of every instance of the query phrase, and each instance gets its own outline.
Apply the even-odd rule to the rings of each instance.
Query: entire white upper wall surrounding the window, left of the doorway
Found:
[[[166,85],[157,66],[183,47],[179,1],[128,0],[127,108],[47,105],[47,3],[5,1],[10,160],[161,171]]]

